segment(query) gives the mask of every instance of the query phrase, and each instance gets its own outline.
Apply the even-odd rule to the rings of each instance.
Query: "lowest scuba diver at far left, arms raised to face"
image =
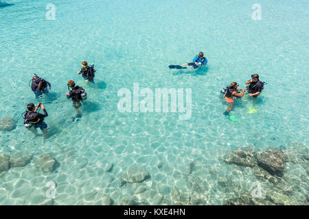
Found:
[[[27,105],[27,110],[23,112],[22,117],[25,119],[24,125],[27,129],[32,131],[35,136],[37,136],[37,128],[40,128],[44,134],[44,138],[49,138],[47,134],[47,124],[44,123],[44,118],[48,116],[45,107],[42,103],[34,105],[33,103],[25,103]],[[38,113],[40,111],[39,107],[43,110],[44,114]]]

